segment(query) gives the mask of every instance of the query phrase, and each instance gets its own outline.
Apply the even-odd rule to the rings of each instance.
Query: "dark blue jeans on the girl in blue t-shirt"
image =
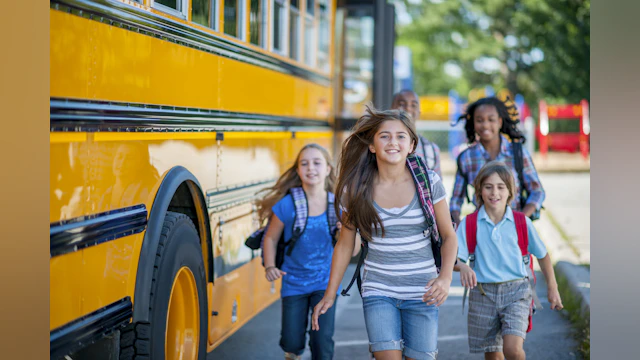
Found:
[[[307,329],[309,329],[311,359],[331,360],[333,358],[333,330],[337,298],[336,303],[318,318],[320,330],[310,330],[310,317],[313,308],[322,300],[323,296],[324,291],[314,291],[310,294],[282,298],[282,332],[280,333],[282,350],[302,355]]]

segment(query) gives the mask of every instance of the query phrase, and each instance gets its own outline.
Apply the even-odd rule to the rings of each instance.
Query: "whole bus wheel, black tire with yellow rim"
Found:
[[[151,284],[149,323],[130,324],[120,360],[204,360],[207,295],[200,238],[186,215],[167,212]]]

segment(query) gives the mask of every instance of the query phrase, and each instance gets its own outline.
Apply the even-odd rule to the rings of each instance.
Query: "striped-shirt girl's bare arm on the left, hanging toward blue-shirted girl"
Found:
[[[313,316],[311,318],[312,330],[319,330],[318,318],[324,314],[333,306],[336,300],[336,292],[344,276],[344,272],[349,266],[349,261],[354,253],[356,231],[355,229],[348,229],[343,226],[340,230],[340,237],[338,243],[333,249],[333,258],[331,259],[331,275],[329,275],[329,285],[324,292],[322,300],[313,309]]]

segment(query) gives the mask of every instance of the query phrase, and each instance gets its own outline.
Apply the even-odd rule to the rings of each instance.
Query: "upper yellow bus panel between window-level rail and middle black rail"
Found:
[[[329,86],[50,10],[51,96],[327,119]]]

